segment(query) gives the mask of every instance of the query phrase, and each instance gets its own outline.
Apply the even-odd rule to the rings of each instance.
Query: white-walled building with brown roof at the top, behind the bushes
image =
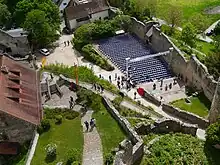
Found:
[[[109,6],[105,0],[71,1],[65,9],[66,27],[74,30],[82,24],[109,17]]]

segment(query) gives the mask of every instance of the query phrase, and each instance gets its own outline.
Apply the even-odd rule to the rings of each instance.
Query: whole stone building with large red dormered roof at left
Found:
[[[31,140],[41,119],[39,73],[0,55],[0,143]]]

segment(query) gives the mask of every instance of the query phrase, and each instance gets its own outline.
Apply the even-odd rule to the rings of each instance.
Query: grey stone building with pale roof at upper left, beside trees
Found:
[[[27,33],[23,29],[0,30],[0,53],[25,56],[30,52]]]

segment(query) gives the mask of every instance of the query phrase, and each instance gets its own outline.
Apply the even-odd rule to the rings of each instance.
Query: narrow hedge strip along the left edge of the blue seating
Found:
[[[111,66],[106,59],[102,58],[94,49],[91,44],[85,45],[82,48],[82,53],[84,58],[107,71],[114,70],[114,67]]]

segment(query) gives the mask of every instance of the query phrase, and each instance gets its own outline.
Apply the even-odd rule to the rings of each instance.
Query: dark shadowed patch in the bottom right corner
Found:
[[[220,163],[220,150],[208,145],[204,145],[204,153],[206,158],[211,165],[219,165]]]

